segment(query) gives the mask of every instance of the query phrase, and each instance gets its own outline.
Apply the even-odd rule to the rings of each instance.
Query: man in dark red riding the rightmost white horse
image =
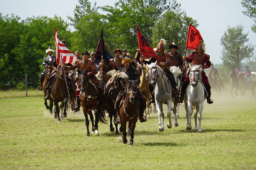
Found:
[[[192,65],[201,65],[201,68],[209,68],[211,66],[210,63],[210,55],[206,54],[204,49],[203,49],[203,43],[200,41],[197,45],[196,52],[192,52],[189,57],[183,56],[184,60],[186,60],[189,63],[192,63]],[[180,101],[179,103],[183,103],[183,98],[186,92],[186,87],[190,83],[189,81],[189,74],[187,74],[185,81],[183,82],[183,85],[181,87],[181,95],[180,95]],[[208,81],[207,76],[205,75],[205,72],[202,71],[202,82],[203,85],[205,86],[205,90],[208,93],[207,96],[207,103],[212,104],[213,101],[210,98],[211,97],[211,87],[210,83]]]

